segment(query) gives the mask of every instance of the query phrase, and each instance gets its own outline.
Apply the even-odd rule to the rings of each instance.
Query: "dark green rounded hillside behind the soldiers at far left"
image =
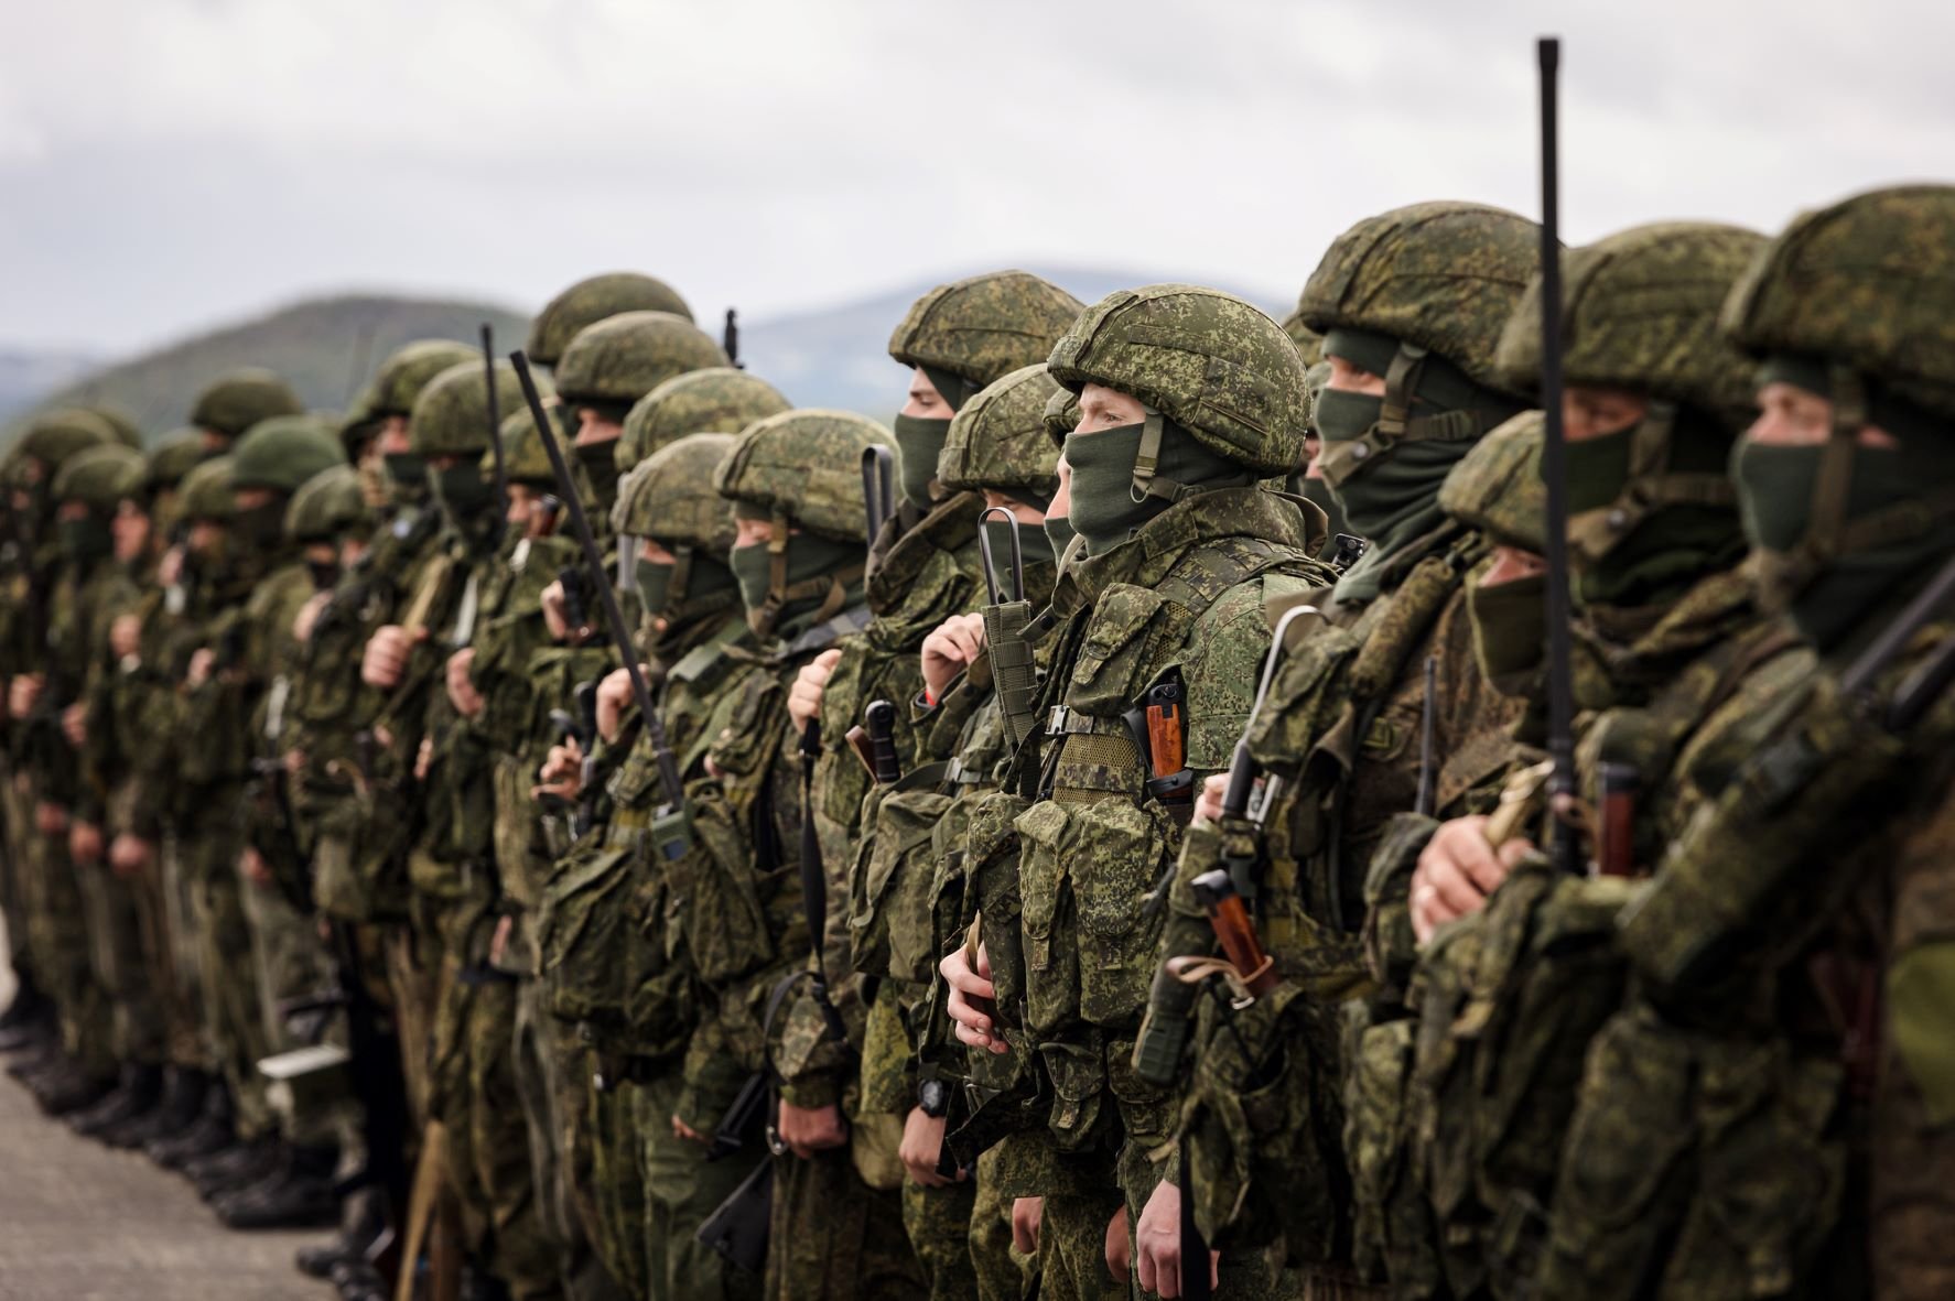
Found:
[[[401,344],[414,338],[473,344],[483,320],[495,326],[497,352],[520,348],[530,330],[528,316],[479,303],[385,295],[307,299],[94,371],[8,420],[0,441],[12,441],[35,410],[88,400],[127,406],[156,438],[184,424],[211,377],[239,365],[266,365],[289,379],[307,406],[338,410]]]

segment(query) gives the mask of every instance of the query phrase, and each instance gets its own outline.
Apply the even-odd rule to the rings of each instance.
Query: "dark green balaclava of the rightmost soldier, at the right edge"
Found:
[[[1840,400],[1824,365],[1771,357],[1760,385],[1785,381],[1834,400],[1834,436],[1824,443],[1740,441],[1732,455],[1738,510],[1752,541],[1760,600],[1791,613],[1822,652],[1871,631],[1865,615],[1924,567],[1955,551],[1955,430],[1918,406],[1879,391]],[[1857,441],[1879,426],[1894,447]],[[1828,467],[1828,461],[1838,461]],[[1828,473],[1832,469],[1832,473]],[[1846,508],[1826,520],[1822,481],[1846,477]]]

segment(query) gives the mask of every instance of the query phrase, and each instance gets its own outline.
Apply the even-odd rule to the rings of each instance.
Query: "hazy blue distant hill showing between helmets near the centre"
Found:
[[[1081,268],[1026,266],[1071,293],[1095,303],[1114,289],[1169,279],[1159,272],[1103,272]],[[888,420],[903,404],[903,373],[890,361],[890,332],[909,305],[933,285],[972,272],[919,279],[868,299],[837,307],[749,322],[741,316],[741,359],[798,406],[835,406]],[[1292,295],[1216,285],[1263,311],[1282,316],[1294,307]]]

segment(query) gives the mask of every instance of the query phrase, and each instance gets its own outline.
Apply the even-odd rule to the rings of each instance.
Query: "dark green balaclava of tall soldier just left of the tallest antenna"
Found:
[[[1331,330],[1325,356],[1343,357],[1406,389],[1410,404],[1396,418],[1386,399],[1324,389],[1312,408],[1324,453],[1324,479],[1343,504],[1349,531],[1386,557],[1441,522],[1439,484],[1484,430],[1523,402],[1476,385],[1456,365],[1370,330]]]

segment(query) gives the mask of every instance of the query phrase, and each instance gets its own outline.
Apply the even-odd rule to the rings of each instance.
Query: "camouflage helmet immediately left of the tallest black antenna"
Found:
[[[1494,348],[1539,258],[1541,227],[1525,217],[1482,203],[1413,203],[1339,234],[1296,311],[1320,334],[1386,334],[1505,391]]]

